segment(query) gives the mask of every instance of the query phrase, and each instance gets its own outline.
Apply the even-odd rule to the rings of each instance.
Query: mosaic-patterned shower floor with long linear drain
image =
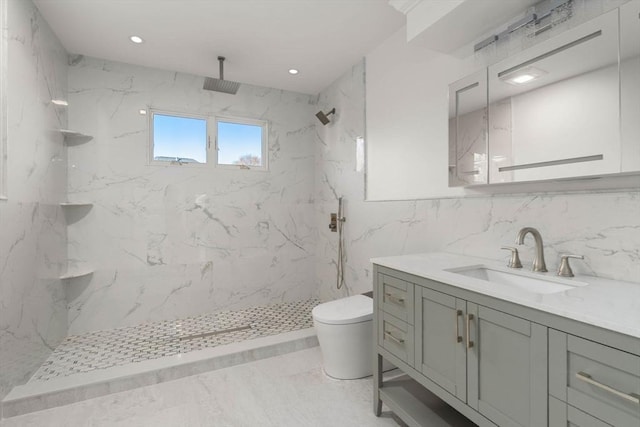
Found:
[[[69,336],[31,381],[311,328],[311,310],[318,304],[311,299]]]

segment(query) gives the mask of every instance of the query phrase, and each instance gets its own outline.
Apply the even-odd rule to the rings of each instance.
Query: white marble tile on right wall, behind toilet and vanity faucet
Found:
[[[557,268],[560,253],[574,253],[585,256],[573,263],[576,273],[640,282],[640,191],[365,202],[364,175],[354,171],[355,138],[364,134],[364,69],[364,64],[355,65],[319,96],[318,108],[336,108],[332,123],[317,132],[320,299],[370,290],[371,257],[447,251],[506,262],[508,254],[500,247],[513,245],[524,226],[542,233],[550,270]],[[341,291],[335,285],[337,233],[327,226],[339,196],[344,196],[347,219],[346,286]],[[531,237],[521,257],[528,267]]]

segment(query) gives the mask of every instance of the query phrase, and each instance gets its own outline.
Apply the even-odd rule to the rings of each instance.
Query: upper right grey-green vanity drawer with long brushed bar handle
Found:
[[[640,426],[640,357],[556,335],[549,347],[550,394],[608,424]]]

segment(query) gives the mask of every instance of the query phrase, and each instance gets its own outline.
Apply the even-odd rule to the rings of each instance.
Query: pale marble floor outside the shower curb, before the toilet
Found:
[[[327,377],[318,347],[0,421],[0,427],[398,425],[388,411],[373,415],[371,378]]]

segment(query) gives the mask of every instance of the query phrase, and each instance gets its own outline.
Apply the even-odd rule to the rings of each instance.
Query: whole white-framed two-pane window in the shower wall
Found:
[[[152,165],[268,169],[265,120],[149,111]]]

